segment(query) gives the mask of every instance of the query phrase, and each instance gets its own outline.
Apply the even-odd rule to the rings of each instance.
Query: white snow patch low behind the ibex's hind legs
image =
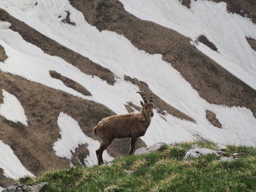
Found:
[[[91,139],[83,133],[78,122],[69,115],[61,112],[58,118],[61,138],[53,144],[53,150],[56,155],[61,158],[72,158],[72,153],[79,145],[87,144],[89,155],[84,160],[86,166],[97,164],[97,156],[95,151],[99,147],[97,140]],[[112,161],[113,158],[105,151],[102,155],[105,161]]]

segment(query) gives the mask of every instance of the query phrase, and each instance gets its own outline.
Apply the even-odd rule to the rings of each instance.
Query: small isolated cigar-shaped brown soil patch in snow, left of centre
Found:
[[[80,85],[78,82],[75,82],[74,80],[70,80],[69,78],[64,77],[56,71],[50,70],[50,76],[57,80],[61,80],[64,83],[64,85],[74,89],[75,91],[78,91],[79,93],[82,93],[85,96],[91,96],[91,93],[86,88],[84,88],[83,85]]]

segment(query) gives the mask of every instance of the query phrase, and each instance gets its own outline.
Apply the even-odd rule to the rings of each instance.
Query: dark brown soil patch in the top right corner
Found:
[[[252,18],[256,23],[256,1],[255,0],[211,0],[215,2],[224,1],[227,4],[227,11],[237,13],[243,17]]]

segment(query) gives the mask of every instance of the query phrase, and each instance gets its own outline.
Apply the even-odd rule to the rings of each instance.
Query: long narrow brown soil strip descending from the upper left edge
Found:
[[[82,72],[96,75],[102,80],[106,80],[110,85],[113,85],[115,82],[115,76],[112,72],[110,72],[109,69],[105,69],[99,64],[95,64],[88,58],[85,58],[82,55],[69,50],[69,48],[60,45],[53,39],[40,34],[38,31],[34,30],[34,28],[26,25],[26,23],[13,18],[4,9],[0,9],[0,20],[12,23],[10,28],[13,31],[17,31],[20,36],[23,37],[23,39],[25,39],[27,42],[40,47],[44,53],[63,58],[69,64],[78,67]]]

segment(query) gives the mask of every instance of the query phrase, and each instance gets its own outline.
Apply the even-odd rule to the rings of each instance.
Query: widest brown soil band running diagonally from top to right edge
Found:
[[[244,2],[244,0],[238,2],[242,1]],[[102,2],[99,0],[69,0],[69,2],[83,12],[87,22],[100,31],[114,31],[124,35],[139,50],[162,54],[163,60],[178,70],[197,90],[200,97],[209,103],[246,107],[252,110],[256,118],[256,91],[211,58],[200,53],[190,44],[189,38],[157,23],[136,18],[126,12],[121,2],[117,0],[105,1],[99,11],[96,9],[97,4]]]

